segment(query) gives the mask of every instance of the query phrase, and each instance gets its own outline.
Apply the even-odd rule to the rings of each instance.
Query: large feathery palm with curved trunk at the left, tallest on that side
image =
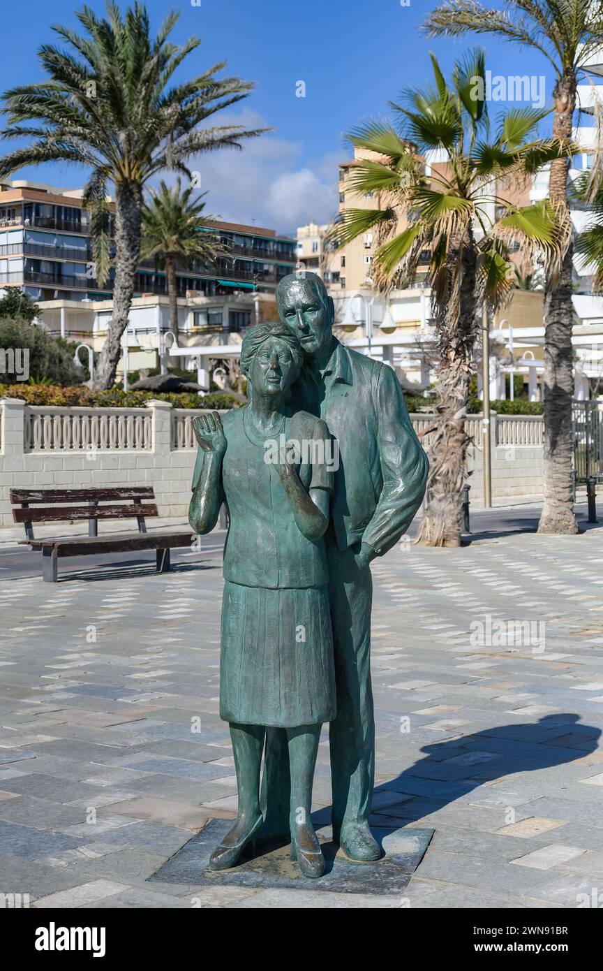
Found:
[[[246,97],[254,85],[216,77],[224,62],[191,81],[172,84],[176,68],[200,44],[195,37],[180,47],[169,41],[178,16],[169,14],[153,39],[147,11],[138,0],[123,17],[116,3],[107,4],[107,19],[82,7],[77,17],[86,36],[55,26],[54,32],[72,50],[45,44],[38,51],[48,80],[14,87],[4,95],[10,127],[3,137],[32,141],[0,159],[0,178],[47,161],[77,162],[91,169],[83,198],[91,214],[99,285],[109,276],[108,187],[114,187],[113,313],[95,371],[99,388],[113,383],[128,322],[141,248],[144,184],[166,169],[190,178],[186,163],[191,155],[240,148],[242,139],[259,134],[238,125],[199,127]]]

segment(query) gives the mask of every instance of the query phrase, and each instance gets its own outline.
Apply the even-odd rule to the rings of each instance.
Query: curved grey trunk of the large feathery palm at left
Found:
[[[121,335],[128,325],[128,315],[141,251],[143,189],[137,183],[119,183],[115,187],[115,283],[113,312],[107,339],[94,374],[95,390],[110,388],[121,356]]]

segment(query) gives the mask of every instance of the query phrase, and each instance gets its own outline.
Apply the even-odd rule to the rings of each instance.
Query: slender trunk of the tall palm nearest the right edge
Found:
[[[555,84],[553,136],[570,139],[576,107],[576,79],[565,75]],[[569,159],[551,163],[549,196],[559,215],[569,218]],[[574,397],[572,324],[573,243],[563,258],[557,280],[547,281],[545,297],[544,372],[544,503],[539,533],[577,533],[572,483],[572,400]]]

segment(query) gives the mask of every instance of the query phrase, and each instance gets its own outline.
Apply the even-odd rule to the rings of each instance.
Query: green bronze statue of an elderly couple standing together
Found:
[[[310,813],[325,722],[333,841],[352,860],[380,855],[368,825],[369,564],[408,528],[428,461],[394,371],[333,336],[322,280],[285,277],[276,305],[280,321],[252,327],[241,345],[249,404],[195,419],[191,527],[209,532],[223,503],[230,515],[220,717],[230,724],[238,817],[209,865],[235,866],[248,844],[282,838],[286,826],[302,874],[320,877]]]

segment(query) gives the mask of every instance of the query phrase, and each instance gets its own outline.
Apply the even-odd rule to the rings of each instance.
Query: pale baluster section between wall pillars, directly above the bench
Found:
[[[142,408],[25,408],[25,452],[144,452],[152,416]]]

